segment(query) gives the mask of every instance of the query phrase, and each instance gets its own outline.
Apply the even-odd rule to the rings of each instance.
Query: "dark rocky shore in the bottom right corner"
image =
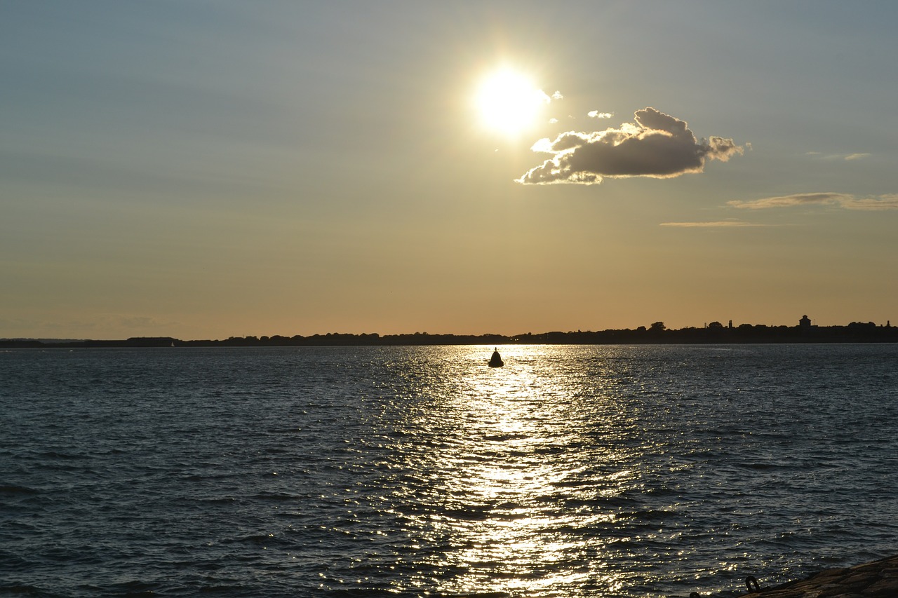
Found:
[[[750,584],[752,581],[750,578]],[[774,587],[765,587],[763,583],[753,587],[760,591],[745,595],[759,598],[898,598],[898,556],[855,567],[827,569],[807,579]]]

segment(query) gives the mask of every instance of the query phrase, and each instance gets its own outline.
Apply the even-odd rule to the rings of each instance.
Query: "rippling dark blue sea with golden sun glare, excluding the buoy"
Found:
[[[898,552],[898,347],[0,353],[0,594],[733,595]]]

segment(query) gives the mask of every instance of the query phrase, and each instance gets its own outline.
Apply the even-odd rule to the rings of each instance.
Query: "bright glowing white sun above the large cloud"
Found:
[[[550,98],[523,73],[502,69],[483,78],[474,97],[480,124],[503,135],[533,127]]]

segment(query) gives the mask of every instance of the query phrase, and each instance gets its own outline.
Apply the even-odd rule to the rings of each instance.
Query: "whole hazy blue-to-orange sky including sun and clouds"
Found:
[[[0,4],[0,338],[898,324],[898,4]]]

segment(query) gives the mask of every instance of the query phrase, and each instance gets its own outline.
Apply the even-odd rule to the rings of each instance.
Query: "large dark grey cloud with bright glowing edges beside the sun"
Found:
[[[706,160],[726,162],[744,151],[732,139],[696,139],[684,120],[654,108],[637,110],[635,120],[621,128],[593,133],[568,131],[554,141],[539,140],[533,151],[554,155],[517,182],[591,185],[604,177],[669,179],[702,171]]]

